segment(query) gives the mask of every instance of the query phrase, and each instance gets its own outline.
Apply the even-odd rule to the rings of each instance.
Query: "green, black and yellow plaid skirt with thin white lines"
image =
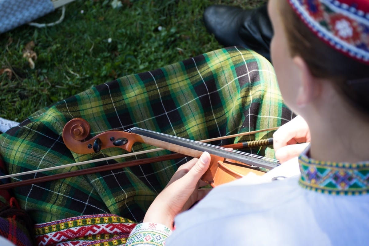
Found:
[[[39,110],[0,137],[0,152],[10,174],[122,154],[72,153],[63,144],[63,126],[75,117],[91,125],[94,136],[109,129],[140,127],[192,140],[264,129],[292,119],[283,104],[272,65],[255,52],[232,47],[163,68],[104,83]],[[217,141],[270,137],[259,133]],[[135,144],[133,151],[151,146]],[[273,157],[270,148],[248,150]],[[256,152],[255,152],[256,151]],[[168,151],[146,154],[159,156]],[[134,160],[142,156],[133,156]],[[105,171],[14,189],[21,208],[37,223],[80,215],[112,213],[141,221],[146,209],[177,167],[189,158]],[[124,161],[24,175],[12,181]]]

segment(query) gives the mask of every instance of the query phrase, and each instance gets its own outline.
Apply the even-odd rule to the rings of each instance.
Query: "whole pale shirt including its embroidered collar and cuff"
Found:
[[[155,245],[369,245],[369,162],[323,163],[308,151],[263,176],[214,188]]]

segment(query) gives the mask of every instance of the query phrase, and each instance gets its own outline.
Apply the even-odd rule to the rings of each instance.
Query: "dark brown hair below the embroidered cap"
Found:
[[[291,57],[301,56],[313,76],[329,79],[355,106],[369,113],[369,65],[344,55],[318,38],[287,0],[278,1],[278,8]]]

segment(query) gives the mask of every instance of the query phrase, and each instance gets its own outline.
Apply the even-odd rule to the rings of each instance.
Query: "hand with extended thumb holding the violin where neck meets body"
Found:
[[[177,214],[189,209],[201,200],[210,189],[199,189],[206,185],[201,176],[210,165],[210,155],[204,152],[199,159],[194,158],[181,165],[168,182],[168,185],[152,202],[143,222],[161,223],[173,228]]]

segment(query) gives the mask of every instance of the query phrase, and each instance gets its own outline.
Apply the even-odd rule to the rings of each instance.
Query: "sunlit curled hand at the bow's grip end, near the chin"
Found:
[[[280,163],[286,162],[299,154],[310,143],[310,130],[301,116],[296,116],[273,134],[273,148]]]

